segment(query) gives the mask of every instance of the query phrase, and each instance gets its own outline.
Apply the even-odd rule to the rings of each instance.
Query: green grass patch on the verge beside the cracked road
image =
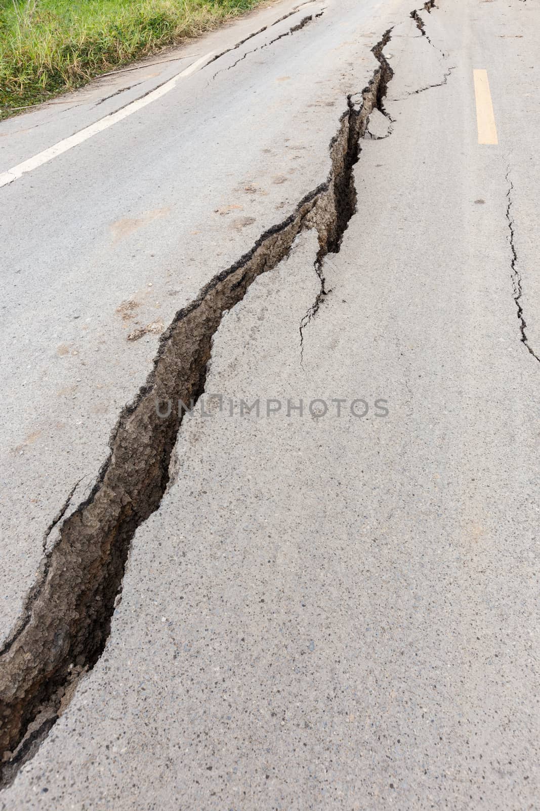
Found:
[[[0,0],[0,119],[261,0]]]

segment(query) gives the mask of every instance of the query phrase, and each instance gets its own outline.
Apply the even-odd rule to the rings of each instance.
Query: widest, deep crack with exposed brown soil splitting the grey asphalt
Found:
[[[359,140],[372,109],[388,116],[383,100],[393,72],[383,48],[389,38],[386,32],[373,48],[379,67],[361,93],[361,103],[353,102],[360,94],[347,99],[330,143],[328,178],[176,314],[162,336],[146,384],[118,419],[109,440],[110,455],[90,495],[68,517],[66,501],[54,523],[59,526],[57,541],[47,551],[19,622],[0,651],[3,786],[39,748],[79,680],[104,650],[131,539],[159,508],[184,415],[181,408],[172,408],[164,416],[159,403],[198,400],[223,313],[244,298],[257,276],[288,255],[301,230],[317,230],[319,268],[325,255],[339,251],[356,207],[353,167]],[[320,278],[321,293],[310,318],[325,295],[324,277]]]

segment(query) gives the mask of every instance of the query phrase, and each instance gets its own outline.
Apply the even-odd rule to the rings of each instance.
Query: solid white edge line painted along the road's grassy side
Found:
[[[156,99],[161,98],[169,90],[172,90],[176,86],[176,82],[178,79],[184,79],[186,76],[194,73],[198,70],[199,67],[205,64],[213,55],[214,51],[210,51],[210,53],[205,54],[197,62],[193,62],[193,64],[186,67],[184,71],[181,73],[177,73],[176,76],[173,76],[172,79],[168,79],[167,82],[161,84],[159,88],[155,88],[151,92],[147,93],[146,96],[142,96],[135,101],[132,101],[131,104],[125,105],[122,109],[117,110],[116,113],[111,113],[106,115],[104,118],[100,118],[99,121],[94,122],[89,127],[85,127],[83,130],[79,130],[79,132],[75,132],[74,135],[70,135],[69,138],[64,138],[62,141],[58,141],[57,144],[54,144],[49,149],[45,149],[43,152],[39,152],[34,157],[28,158],[28,161],[23,161],[23,163],[19,163],[16,166],[13,166],[11,169],[8,169],[3,174],[0,174],[0,187],[7,186],[9,183],[12,183],[14,180],[22,177],[23,174],[27,172],[32,172],[32,169],[37,169],[38,166],[47,163],[48,161],[52,161],[54,157],[58,157],[58,155],[62,155],[63,152],[67,152],[69,149],[72,149],[79,144],[83,144],[83,141],[87,141],[92,135],[97,135],[98,132],[103,132],[107,130],[108,127],[113,127],[113,124],[116,124],[122,119],[127,118],[129,115],[133,115],[137,113],[139,109],[146,107],[147,105],[151,104],[152,101],[156,101]]]

